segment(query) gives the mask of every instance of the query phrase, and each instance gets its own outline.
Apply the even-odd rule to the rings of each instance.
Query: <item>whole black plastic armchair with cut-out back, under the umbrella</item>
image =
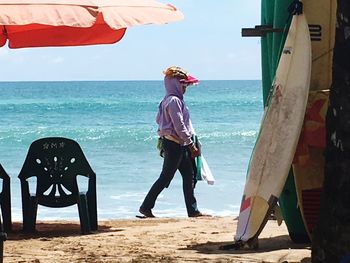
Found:
[[[77,176],[80,175],[88,178],[85,192],[79,191]],[[46,207],[77,204],[81,232],[97,230],[96,174],[77,142],[61,137],[34,141],[18,177],[25,232],[35,231],[38,204]],[[30,177],[36,177],[35,193],[30,193]]]

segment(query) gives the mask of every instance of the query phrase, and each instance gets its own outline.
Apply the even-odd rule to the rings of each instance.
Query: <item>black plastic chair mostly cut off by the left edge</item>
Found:
[[[5,232],[12,231],[11,220],[11,189],[10,176],[0,164],[0,178],[2,179],[2,191],[0,193],[1,214],[3,219],[3,228]]]

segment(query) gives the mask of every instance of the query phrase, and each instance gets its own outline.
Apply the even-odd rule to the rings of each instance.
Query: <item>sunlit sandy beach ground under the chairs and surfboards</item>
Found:
[[[80,235],[79,222],[38,222],[35,234],[14,223],[4,243],[4,262],[311,262],[308,244],[294,244],[284,224],[270,220],[258,250],[220,250],[232,243],[233,217],[100,221]]]

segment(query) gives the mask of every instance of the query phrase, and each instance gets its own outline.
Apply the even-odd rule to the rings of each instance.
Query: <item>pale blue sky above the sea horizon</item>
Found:
[[[0,81],[160,80],[181,66],[201,80],[261,79],[260,0],[159,0],[184,20],[131,27],[113,45],[0,48]]]

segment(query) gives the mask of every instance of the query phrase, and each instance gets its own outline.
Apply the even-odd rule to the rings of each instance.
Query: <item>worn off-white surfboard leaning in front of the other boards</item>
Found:
[[[244,188],[235,241],[258,237],[285,185],[309,92],[311,43],[304,14],[292,18]]]

